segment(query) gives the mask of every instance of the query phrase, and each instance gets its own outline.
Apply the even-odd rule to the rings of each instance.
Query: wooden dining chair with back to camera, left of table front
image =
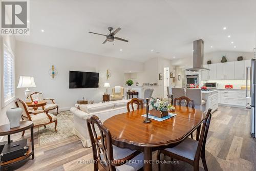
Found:
[[[143,162],[138,162],[143,161],[143,153],[113,145],[109,129],[97,116],[87,118],[87,127],[92,142],[94,170],[139,170],[143,167]],[[100,135],[97,135],[96,128]]]

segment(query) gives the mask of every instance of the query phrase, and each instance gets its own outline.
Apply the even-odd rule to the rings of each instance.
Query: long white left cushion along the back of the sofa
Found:
[[[84,112],[90,114],[90,113],[94,113],[94,112],[114,109],[114,106],[115,106],[115,103],[113,101],[108,101],[108,102],[104,102],[104,103],[95,103],[95,104],[87,105],[86,111],[84,111]]]

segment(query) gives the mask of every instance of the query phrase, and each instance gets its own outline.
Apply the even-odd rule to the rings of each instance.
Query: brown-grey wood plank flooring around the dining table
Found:
[[[250,137],[248,110],[219,106],[212,114],[206,143],[206,162],[209,170],[255,170],[256,139]],[[25,134],[28,138],[29,132]],[[17,170],[93,170],[91,148],[83,148],[76,136],[44,145],[38,144],[35,129],[35,159],[11,169]],[[194,136],[196,137],[196,136]],[[12,136],[20,139],[20,134]],[[154,152],[153,160],[156,160]],[[161,160],[170,160],[161,156]],[[157,170],[153,164],[153,170]],[[161,164],[161,170],[193,170],[187,163]],[[200,161],[200,170],[203,170]]]

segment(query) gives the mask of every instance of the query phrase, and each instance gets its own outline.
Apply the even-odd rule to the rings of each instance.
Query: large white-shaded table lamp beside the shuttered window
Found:
[[[28,77],[28,76],[19,76],[19,81],[18,81],[18,86],[17,88],[26,88],[25,96],[26,96],[26,101],[29,102],[29,94],[30,90],[29,88],[35,88],[35,80],[34,77]]]

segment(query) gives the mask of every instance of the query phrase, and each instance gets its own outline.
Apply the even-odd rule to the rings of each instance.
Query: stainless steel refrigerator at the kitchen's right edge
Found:
[[[250,75],[250,89],[248,93],[248,74]],[[256,138],[256,48],[254,49],[254,58],[251,59],[251,67],[246,67],[246,98],[251,98],[250,103],[246,104],[246,108],[250,109],[251,112],[251,136]]]

